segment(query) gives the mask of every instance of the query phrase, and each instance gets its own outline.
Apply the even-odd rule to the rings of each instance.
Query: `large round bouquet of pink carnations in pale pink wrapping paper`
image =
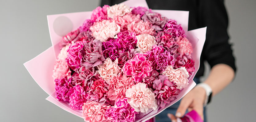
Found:
[[[69,33],[56,23],[71,20],[55,17],[49,25],[50,34],[55,32],[53,48],[41,54],[43,58],[55,53],[50,65],[45,65],[53,72],[42,70],[47,72],[44,80],[52,79],[54,84],[41,83],[43,79],[38,83],[49,93],[49,101],[88,122],[139,122],[154,117],[195,86],[192,79],[199,67],[205,28],[188,33],[180,19],[166,16],[163,10],[128,6],[129,2],[77,15],[79,21],[90,18],[80,25],[73,22],[77,28]],[[36,80],[42,76],[33,71],[33,64],[31,60],[24,65]]]

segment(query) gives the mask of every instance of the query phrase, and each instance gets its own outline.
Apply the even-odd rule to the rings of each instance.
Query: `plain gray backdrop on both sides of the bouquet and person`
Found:
[[[234,82],[213,98],[208,120],[255,121],[256,1],[225,3],[238,72]],[[1,122],[83,121],[45,100],[48,95],[23,63],[51,46],[46,15],[91,11],[98,5],[99,0],[0,0]]]

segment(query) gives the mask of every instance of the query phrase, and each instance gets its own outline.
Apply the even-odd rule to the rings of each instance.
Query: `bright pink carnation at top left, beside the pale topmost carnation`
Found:
[[[107,8],[109,5],[104,5],[102,8],[99,6],[96,9],[93,10],[93,13],[91,15],[91,20],[93,22],[99,22],[102,20],[107,20],[108,15],[107,15]]]

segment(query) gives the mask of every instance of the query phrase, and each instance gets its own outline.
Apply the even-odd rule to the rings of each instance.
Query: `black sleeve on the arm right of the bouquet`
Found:
[[[203,0],[200,19],[203,27],[207,26],[206,41],[202,56],[211,67],[224,63],[236,71],[235,59],[232,54],[227,33],[228,16],[224,0]],[[200,14],[199,14],[200,15]]]

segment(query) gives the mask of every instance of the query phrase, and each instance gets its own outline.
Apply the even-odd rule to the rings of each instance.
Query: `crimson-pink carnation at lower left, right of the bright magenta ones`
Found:
[[[108,99],[108,82],[104,81],[103,79],[97,79],[96,81],[93,81],[93,84],[91,88],[89,88],[89,91],[87,92],[89,101],[95,101],[100,104],[110,104],[110,100]]]

